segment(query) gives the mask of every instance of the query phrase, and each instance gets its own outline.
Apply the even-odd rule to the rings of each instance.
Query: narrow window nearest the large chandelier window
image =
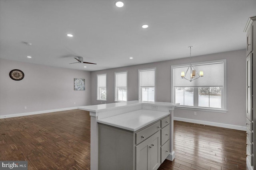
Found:
[[[156,68],[139,70],[139,100],[155,101],[155,74]]]

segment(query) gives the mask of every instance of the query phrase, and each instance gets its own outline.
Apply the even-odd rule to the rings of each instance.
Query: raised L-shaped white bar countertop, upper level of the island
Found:
[[[167,107],[174,107],[178,106],[177,103],[168,103],[168,102],[142,102],[138,100],[134,101],[128,101],[128,102],[117,102],[117,103],[110,103],[110,104],[98,104],[98,105],[92,105],[92,106],[81,106],[78,107],[78,109],[86,110],[86,111],[92,111],[92,112],[99,112],[99,111],[108,111],[112,109],[117,108],[125,108],[130,106],[136,106],[136,105],[156,105],[156,106],[167,106]]]

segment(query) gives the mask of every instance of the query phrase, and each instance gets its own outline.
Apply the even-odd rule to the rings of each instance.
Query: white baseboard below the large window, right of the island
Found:
[[[210,126],[216,126],[216,127],[224,127],[224,128],[236,129],[236,130],[240,130],[240,131],[246,131],[246,126],[230,125],[230,124],[224,124],[224,123],[187,119],[187,118],[181,118],[181,117],[174,117],[174,120],[185,121],[185,122],[190,122],[190,123],[197,123],[197,124],[202,124],[202,125],[210,125]]]

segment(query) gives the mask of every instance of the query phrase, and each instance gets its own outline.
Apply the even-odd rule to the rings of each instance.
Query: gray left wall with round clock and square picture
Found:
[[[24,79],[12,80],[13,69]],[[85,79],[85,91],[74,91],[74,78]],[[90,72],[0,59],[0,94],[0,115],[90,105]]]

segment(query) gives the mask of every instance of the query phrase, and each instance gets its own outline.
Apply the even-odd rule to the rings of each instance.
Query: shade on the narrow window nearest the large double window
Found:
[[[155,86],[155,70],[140,71],[140,87]]]

